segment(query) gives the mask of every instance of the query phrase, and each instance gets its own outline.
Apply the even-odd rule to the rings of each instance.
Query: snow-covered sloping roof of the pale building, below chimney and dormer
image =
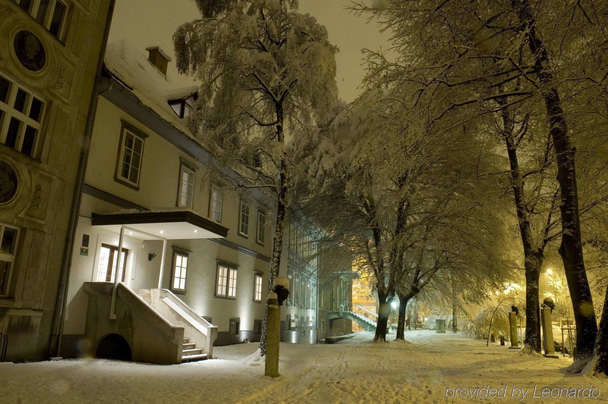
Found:
[[[196,86],[180,88],[170,78],[165,78],[148,61],[147,56],[126,39],[108,45],[104,62],[106,69],[127,86],[142,104],[196,140],[192,131],[168,104],[169,100],[191,95],[196,91]]]

